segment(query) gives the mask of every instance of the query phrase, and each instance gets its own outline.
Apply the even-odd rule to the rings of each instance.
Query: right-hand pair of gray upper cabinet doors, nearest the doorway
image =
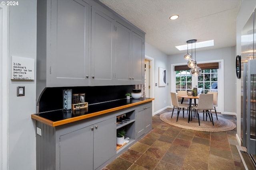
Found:
[[[116,22],[116,84],[144,84],[144,38]]]

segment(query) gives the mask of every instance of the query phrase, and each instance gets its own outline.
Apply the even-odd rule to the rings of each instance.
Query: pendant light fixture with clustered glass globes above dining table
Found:
[[[191,68],[190,69],[190,74],[194,77],[198,77],[200,76],[200,74],[202,73],[202,69],[200,67],[197,66],[197,63],[196,63],[196,39],[191,39],[191,40],[188,40],[187,43],[191,43],[191,59],[188,61],[188,67]],[[195,53],[195,59],[193,60],[193,43],[195,44],[194,45],[194,53]],[[186,54],[187,55],[187,54]],[[185,55],[185,56],[186,56]],[[184,56],[184,58],[185,58]]]

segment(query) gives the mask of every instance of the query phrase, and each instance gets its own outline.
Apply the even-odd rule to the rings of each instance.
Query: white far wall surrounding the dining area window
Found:
[[[184,52],[184,54],[186,51]],[[168,74],[170,75],[171,64],[186,64],[184,54],[171,55],[168,58]],[[235,113],[235,89],[236,89],[236,72],[235,72],[235,47],[227,47],[208,51],[196,51],[196,61],[198,63],[204,61],[224,60],[224,113]],[[174,80],[175,81],[175,80]],[[169,82],[170,83],[170,82]],[[169,86],[168,91],[175,91]],[[170,103],[170,97],[168,98]]]

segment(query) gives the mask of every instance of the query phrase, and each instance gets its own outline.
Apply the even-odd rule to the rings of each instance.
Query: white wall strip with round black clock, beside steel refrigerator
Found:
[[[255,0],[244,0],[236,18],[236,55],[241,55],[241,31],[256,8]],[[234,56],[235,60],[235,56]],[[236,79],[237,135],[241,139],[241,80]],[[239,140],[240,140],[239,139]]]

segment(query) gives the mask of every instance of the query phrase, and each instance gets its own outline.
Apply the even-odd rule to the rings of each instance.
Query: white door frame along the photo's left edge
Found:
[[[8,170],[9,7],[0,6],[0,170]]]

